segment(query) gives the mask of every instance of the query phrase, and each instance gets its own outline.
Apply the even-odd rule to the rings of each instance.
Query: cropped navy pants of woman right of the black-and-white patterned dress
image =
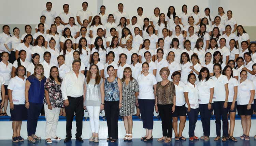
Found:
[[[155,99],[138,99],[143,128],[153,129]]]

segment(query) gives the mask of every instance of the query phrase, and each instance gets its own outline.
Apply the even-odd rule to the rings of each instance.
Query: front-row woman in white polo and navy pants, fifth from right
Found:
[[[194,73],[190,73],[188,75],[188,84],[184,87],[184,96],[186,101],[186,112],[189,120],[189,128],[188,135],[189,141],[199,140],[197,136],[195,136],[195,128],[199,113],[199,104],[198,104],[198,89],[196,83],[196,75]],[[187,104],[188,103],[188,104]]]

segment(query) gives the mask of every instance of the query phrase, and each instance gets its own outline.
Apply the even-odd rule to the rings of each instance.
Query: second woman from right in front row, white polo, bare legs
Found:
[[[228,135],[229,139],[231,139],[234,142],[237,142],[237,139],[234,138],[233,132],[234,132],[234,124],[235,124],[235,116],[237,112],[237,86],[238,81],[236,78],[233,78],[233,70],[232,67],[227,65],[222,72],[223,75],[226,75],[228,78],[228,115],[230,117],[230,129],[228,126]],[[227,116],[228,118],[228,116]],[[229,123],[228,123],[229,125]]]

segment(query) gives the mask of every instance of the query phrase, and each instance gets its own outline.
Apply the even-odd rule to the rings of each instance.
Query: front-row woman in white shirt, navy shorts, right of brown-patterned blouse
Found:
[[[182,136],[183,129],[186,123],[186,107],[185,107],[185,97],[184,97],[184,86],[185,84],[180,81],[181,73],[175,71],[172,74],[173,84],[175,85],[175,94],[176,94],[176,102],[175,102],[175,111],[172,114],[172,127],[175,134],[174,140],[183,140],[186,138]],[[178,116],[180,117],[179,124],[179,133],[178,133]]]

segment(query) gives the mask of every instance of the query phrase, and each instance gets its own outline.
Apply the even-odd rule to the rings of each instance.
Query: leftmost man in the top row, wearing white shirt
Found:
[[[57,17],[57,13],[52,10],[52,3],[51,2],[47,2],[46,3],[46,10],[41,12],[41,16],[45,16],[45,24],[47,24],[48,26],[51,26],[51,24],[54,24],[54,20],[55,17]]]

